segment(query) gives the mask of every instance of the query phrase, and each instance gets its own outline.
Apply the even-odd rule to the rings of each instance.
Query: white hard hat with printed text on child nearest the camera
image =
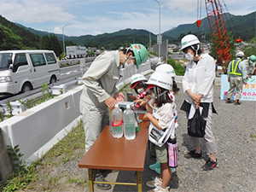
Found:
[[[146,84],[153,84],[166,90],[172,90],[172,77],[167,73],[154,72]]]

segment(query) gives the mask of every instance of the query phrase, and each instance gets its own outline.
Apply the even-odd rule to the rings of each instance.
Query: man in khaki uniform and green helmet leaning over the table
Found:
[[[85,153],[108,125],[108,108],[124,100],[124,95],[116,89],[119,70],[126,65],[137,67],[148,59],[148,51],[143,44],[131,44],[123,50],[106,51],[96,57],[84,73],[84,90],[80,97],[80,112],[84,123]],[[96,173],[96,181],[105,181],[102,172]],[[100,189],[110,189],[110,184],[96,183]]]

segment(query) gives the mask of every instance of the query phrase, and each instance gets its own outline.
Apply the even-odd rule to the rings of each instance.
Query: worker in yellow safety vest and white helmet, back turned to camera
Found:
[[[247,67],[244,61],[241,61],[244,57],[242,51],[236,53],[236,60],[230,61],[228,67],[228,81],[230,82],[230,90],[228,91],[226,103],[230,103],[230,98],[236,88],[236,102],[235,105],[241,105],[239,100],[241,99],[241,92],[243,84],[247,84]]]

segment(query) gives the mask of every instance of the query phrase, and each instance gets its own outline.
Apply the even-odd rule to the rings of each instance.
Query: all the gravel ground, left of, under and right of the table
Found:
[[[234,103],[226,104],[219,99],[220,86],[214,85],[214,107],[218,114],[213,114],[212,129],[218,146],[218,167],[212,171],[202,171],[201,166],[207,159],[203,142],[201,143],[202,159],[184,158],[184,154],[192,149],[192,145],[187,135],[185,113],[179,110],[184,99],[182,85],[177,85],[181,89],[176,96],[179,166],[177,172],[172,174],[170,191],[256,191],[256,102],[243,101],[241,106],[236,106]],[[38,172],[37,182],[31,183],[29,189],[25,191],[42,191],[42,189],[45,191],[48,189],[49,191],[89,191],[88,185],[67,182],[68,177],[88,181],[87,169],[78,167],[84,148],[74,151],[77,156],[70,158],[64,165],[60,163],[58,166],[42,166]],[[154,163],[149,156],[147,151],[143,172],[143,191],[149,190],[146,182],[157,175],[148,168]],[[58,158],[61,160],[61,156]],[[55,183],[49,182],[52,180]],[[134,182],[135,173],[111,172],[107,180]],[[102,192],[103,190],[95,188],[95,191]],[[108,191],[137,191],[137,187],[115,185]]]

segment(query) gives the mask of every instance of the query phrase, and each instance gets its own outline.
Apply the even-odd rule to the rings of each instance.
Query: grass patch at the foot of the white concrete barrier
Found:
[[[61,177],[67,177],[67,182],[73,181],[73,183],[80,183],[86,185],[85,180],[75,180],[68,177],[67,174],[56,174],[57,176],[51,176],[51,171],[58,169],[60,164],[65,166],[69,160],[75,160],[77,162],[83,156],[83,154],[77,153],[77,150],[84,150],[84,128],[82,120],[79,122],[77,127],[74,127],[66,137],[61,139],[55,144],[53,148],[44,154],[44,156],[35,162],[31,166],[25,166],[20,171],[14,172],[9,176],[9,179],[5,183],[0,183],[0,191],[9,192],[17,190],[29,190],[42,191],[50,190],[51,187],[57,185],[57,182]],[[42,171],[49,170],[42,174]],[[60,168],[60,170],[65,168]],[[44,185],[37,186],[37,183]],[[39,185],[39,184],[38,184]]]

